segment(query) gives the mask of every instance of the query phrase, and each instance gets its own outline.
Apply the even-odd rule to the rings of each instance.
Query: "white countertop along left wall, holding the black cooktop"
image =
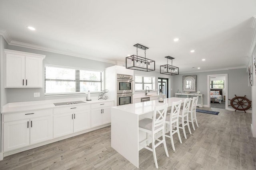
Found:
[[[8,103],[2,107],[1,114],[3,113],[16,113],[21,111],[30,111],[30,110],[40,110],[40,109],[52,109],[52,108],[58,108],[58,107],[67,107],[67,106],[78,106],[78,105],[84,105],[84,104],[94,104],[94,103],[100,103],[100,102],[111,102],[113,100],[91,100],[86,101],[84,98],[81,100],[86,103],[82,104],[73,104],[73,105],[61,105],[61,106],[55,106],[54,103],[58,102],[71,102],[71,101],[80,101],[80,98],[76,99],[62,99],[62,100],[42,100],[42,101],[34,101],[34,102],[15,102],[15,103]]]

